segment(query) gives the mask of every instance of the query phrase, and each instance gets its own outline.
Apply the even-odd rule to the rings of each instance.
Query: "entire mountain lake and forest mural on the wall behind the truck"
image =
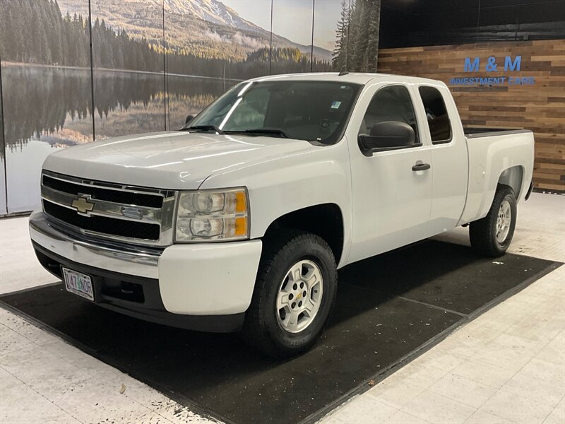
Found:
[[[380,0],[0,0],[0,215],[37,206],[40,165],[56,149],[177,129],[246,78],[376,71],[379,8]]]

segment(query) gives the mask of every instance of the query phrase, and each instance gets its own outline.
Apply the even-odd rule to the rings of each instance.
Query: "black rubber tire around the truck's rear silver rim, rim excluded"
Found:
[[[497,220],[501,204],[507,201],[510,205],[511,217],[509,231],[504,240],[497,240]],[[471,247],[485,257],[497,258],[506,253],[509,248],[516,228],[516,195],[513,189],[506,185],[499,185],[494,194],[494,200],[490,207],[489,213],[484,218],[470,223],[469,237]]]

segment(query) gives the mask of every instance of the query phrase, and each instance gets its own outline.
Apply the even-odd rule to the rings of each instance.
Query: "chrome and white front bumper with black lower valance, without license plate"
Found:
[[[45,269],[61,266],[93,278],[102,307],[160,324],[237,331],[253,294],[261,240],[165,249],[89,240],[66,232],[36,211],[30,237]]]

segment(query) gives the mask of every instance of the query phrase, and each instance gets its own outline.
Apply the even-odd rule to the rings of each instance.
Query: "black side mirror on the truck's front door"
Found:
[[[374,150],[391,150],[413,146],[416,134],[405,122],[385,121],[375,124],[371,134],[359,134],[359,148],[364,155],[371,156]]]

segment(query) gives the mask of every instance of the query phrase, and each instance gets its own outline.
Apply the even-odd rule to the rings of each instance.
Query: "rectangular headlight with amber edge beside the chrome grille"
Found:
[[[177,242],[248,238],[247,190],[180,192],[175,234]]]

